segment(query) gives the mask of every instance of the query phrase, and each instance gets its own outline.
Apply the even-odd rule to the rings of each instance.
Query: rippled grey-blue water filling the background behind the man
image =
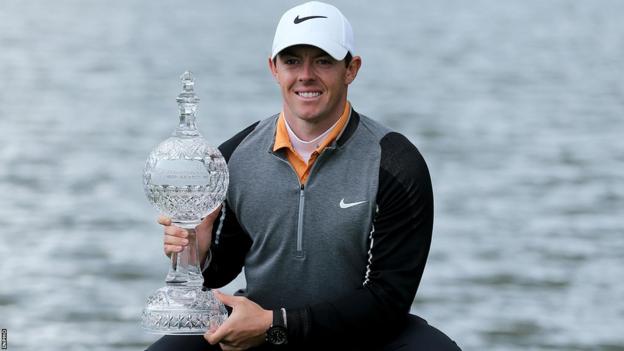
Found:
[[[142,190],[192,70],[212,143],[280,109],[291,1],[0,2],[0,326],[9,349],[140,350],[168,267]],[[336,1],[358,111],[430,166],[413,310],[465,350],[624,350],[624,3]]]

